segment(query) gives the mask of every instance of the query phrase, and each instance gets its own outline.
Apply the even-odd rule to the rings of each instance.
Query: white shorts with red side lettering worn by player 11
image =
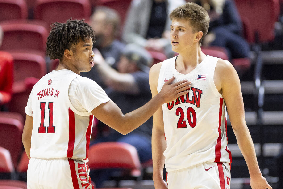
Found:
[[[27,169],[28,189],[94,189],[89,166],[70,158],[31,158]]]

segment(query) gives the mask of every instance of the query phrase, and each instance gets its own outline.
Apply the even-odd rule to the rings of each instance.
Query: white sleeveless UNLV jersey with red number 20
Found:
[[[213,80],[218,58],[206,55],[193,71],[184,75],[175,68],[176,57],[162,63],[158,92],[172,76],[173,83],[187,79],[192,87],[188,94],[162,105],[167,172],[207,161],[231,163],[226,105]]]

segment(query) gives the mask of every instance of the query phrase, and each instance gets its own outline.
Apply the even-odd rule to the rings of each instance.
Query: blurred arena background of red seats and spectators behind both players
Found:
[[[178,55],[171,50],[169,13],[186,2],[209,13],[209,32],[201,49],[229,60],[238,72],[262,173],[273,188],[282,189],[282,0],[0,0],[0,185],[12,179],[24,187],[26,181],[24,108],[33,85],[59,63],[45,55],[51,23],[85,19],[93,27],[97,64],[80,75],[97,82],[125,114],[151,99],[150,67]],[[97,188],[111,186],[107,180],[115,180],[115,186],[135,180],[124,186],[154,188],[151,130],[152,118],[127,135],[95,120],[89,166]],[[227,133],[233,157],[231,189],[249,188],[248,169],[231,127]],[[134,146],[134,152],[114,149],[121,142]],[[97,152],[98,144],[111,144],[113,149]],[[92,162],[99,159],[95,156],[102,162]]]

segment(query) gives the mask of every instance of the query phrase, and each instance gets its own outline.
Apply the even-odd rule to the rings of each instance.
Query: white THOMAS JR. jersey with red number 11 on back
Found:
[[[30,157],[88,161],[93,115],[77,111],[68,96],[69,85],[77,77],[81,76],[69,70],[53,71],[33,87]]]

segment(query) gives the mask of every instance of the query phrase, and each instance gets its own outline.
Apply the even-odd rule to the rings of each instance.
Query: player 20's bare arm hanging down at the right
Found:
[[[245,121],[245,110],[241,92],[240,80],[233,65],[226,60],[219,60],[215,74],[220,78],[221,91],[233,131],[239,148],[245,158],[250,173],[252,189],[271,189],[266,179],[261,175],[254,144]]]

